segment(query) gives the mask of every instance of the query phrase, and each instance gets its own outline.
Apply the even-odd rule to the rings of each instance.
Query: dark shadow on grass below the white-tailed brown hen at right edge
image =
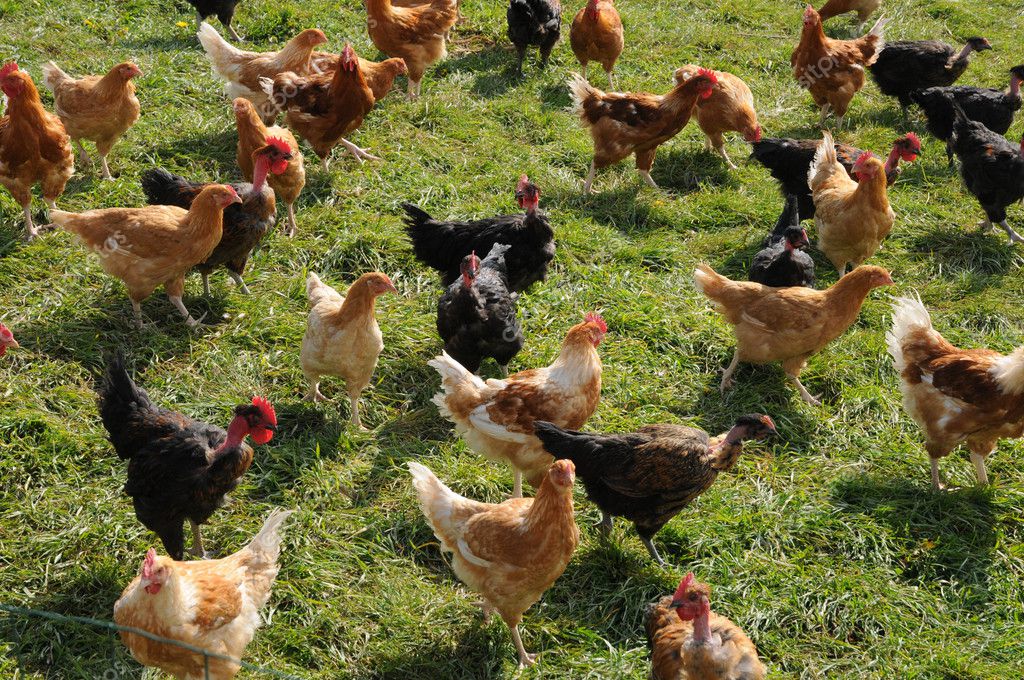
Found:
[[[840,510],[886,522],[910,544],[902,578],[922,584],[966,582],[978,603],[987,601],[995,549],[990,493],[966,488],[933,493],[921,483],[870,475],[845,477],[833,486]]]

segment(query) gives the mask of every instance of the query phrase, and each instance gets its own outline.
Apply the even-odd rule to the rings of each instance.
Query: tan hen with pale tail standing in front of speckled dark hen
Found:
[[[519,636],[522,614],[562,576],[580,545],[572,463],[552,463],[536,498],[499,505],[463,498],[427,467],[408,465],[423,515],[441,550],[452,553],[452,569],[483,597],[484,623],[497,610],[512,634],[519,668],[532,666],[537,654],[526,652]]]

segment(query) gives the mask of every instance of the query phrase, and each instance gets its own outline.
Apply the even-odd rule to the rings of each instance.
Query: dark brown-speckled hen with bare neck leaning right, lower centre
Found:
[[[534,427],[545,451],[575,465],[587,498],[601,509],[602,533],[610,535],[612,517],[626,517],[662,566],[654,535],[708,491],[720,472],[735,466],[744,440],[775,434],[771,418],[762,415],[742,416],[714,438],[682,425],[647,425],[628,434],[573,432],[543,421]]]

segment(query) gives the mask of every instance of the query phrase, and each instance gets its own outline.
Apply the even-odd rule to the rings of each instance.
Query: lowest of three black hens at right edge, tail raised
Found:
[[[1024,199],[1024,140],[1015,146],[1006,137],[977,121],[969,120],[958,104],[950,139],[961,161],[964,185],[985,211],[981,227],[986,231],[998,224],[1010,243],[1024,243],[1024,237],[1007,224],[1007,208]]]

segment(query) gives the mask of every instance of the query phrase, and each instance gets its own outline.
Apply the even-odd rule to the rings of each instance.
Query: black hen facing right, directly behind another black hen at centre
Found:
[[[403,203],[406,231],[413,241],[416,258],[441,272],[441,282],[451,286],[461,275],[462,259],[472,252],[489,253],[496,243],[512,246],[505,254],[509,290],[525,291],[544,281],[548,265],[555,259],[555,232],[547,216],[538,210],[541,190],[526,175],[519,178],[516,201],[523,215],[503,215],[470,222],[442,222],[424,210]]]

